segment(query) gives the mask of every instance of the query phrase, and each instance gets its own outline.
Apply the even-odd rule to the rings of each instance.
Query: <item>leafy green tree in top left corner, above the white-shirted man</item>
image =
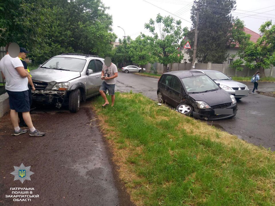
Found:
[[[46,0],[5,0],[0,1],[0,45],[16,42],[21,47],[39,54],[41,48],[48,50],[52,12]]]

